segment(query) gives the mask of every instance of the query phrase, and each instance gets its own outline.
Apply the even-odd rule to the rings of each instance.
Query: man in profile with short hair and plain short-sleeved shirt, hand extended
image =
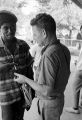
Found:
[[[31,20],[31,25],[34,40],[39,45],[44,45],[36,70],[36,80],[32,81],[16,73],[15,81],[28,83],[36,92],[29,119],[60,120],[64,91],[70,74],[70,52],[57,39],[56,23],[50,15],[38,14]]]

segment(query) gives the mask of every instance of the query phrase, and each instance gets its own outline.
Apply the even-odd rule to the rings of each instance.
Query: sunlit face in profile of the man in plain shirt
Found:
[[[32,31],[33,39],[38,43],[38,45],[43,46],[46,38],[44,30],[37,26],[32,26]]]

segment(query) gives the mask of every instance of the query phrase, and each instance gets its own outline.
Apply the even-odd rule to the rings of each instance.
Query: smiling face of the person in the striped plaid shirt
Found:
[[[16,24],[4,23],[0,27],[0,35],[4,41],[10,41],[15,36]]]

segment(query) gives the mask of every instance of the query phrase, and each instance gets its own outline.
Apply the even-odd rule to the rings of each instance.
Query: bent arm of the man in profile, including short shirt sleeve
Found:
[[[52,61],[51,59],[46,57],[41,64],[42,67],[38,78],[38,83],[16,73],[15,75],[18,76],[18,78],[15,79],[15,81],[19,83],[28,83],[35,91],[41,93],[42,95],[51,96],[53,93],[52,91],[54,91],[55,77],[58,69],[57,65],[58,61]]]

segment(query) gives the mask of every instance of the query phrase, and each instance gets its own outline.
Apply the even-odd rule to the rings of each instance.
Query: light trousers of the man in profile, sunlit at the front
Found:
[[[63,111],[64,97],[55,100],[34,98],[27,120],[60,120]]]

